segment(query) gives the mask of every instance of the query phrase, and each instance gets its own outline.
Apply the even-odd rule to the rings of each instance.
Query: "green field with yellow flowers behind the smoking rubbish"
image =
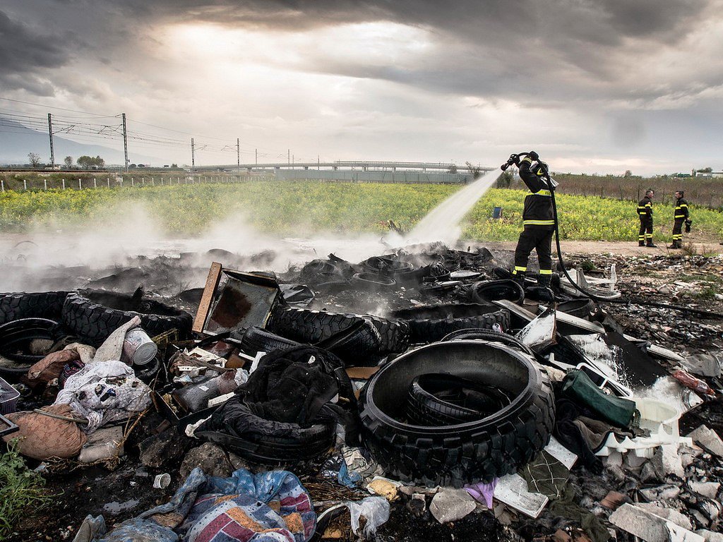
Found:
[[[48,190],[0,194],[0,230],[69,228],[108,223],[142,207],[169,236],[192,236],[239,217],[263,233],[309,236],[319,232],[385,231],[385,221],[411,228],[458,186],[352,184],[320,181],[245,181],[239,184]],[[463,223],[470,241],[515,240],[525,192],[492,189]],[[559,194],[562,238],[620,241],[637,238],[636,203]],[[502,207],[502,220],[491,220]],[[694,231],[723,236],[723,214],[693,206]],[[667,238],[672,207],[656,205],[656,236]]]

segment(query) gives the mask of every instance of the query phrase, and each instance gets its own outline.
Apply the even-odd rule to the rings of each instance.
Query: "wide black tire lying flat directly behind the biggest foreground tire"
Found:
[[[393,316],[409,324],[412,343],[433,343],[456,330],[482,328],[491,330],[500,324],[510,327],[510,311],[492,304],[442,304],[394,311]]]

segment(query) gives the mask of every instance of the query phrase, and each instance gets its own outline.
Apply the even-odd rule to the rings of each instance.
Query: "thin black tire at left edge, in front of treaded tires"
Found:
[[[34,339],[55,343],[61,335],[58,322],[46,318],[21,318],[0,325],[0,356],[14,362],[12,366],[0,366],[0,376],[14,381],[45,357],[44,354],[17,353],[17,346],[22,348]]]

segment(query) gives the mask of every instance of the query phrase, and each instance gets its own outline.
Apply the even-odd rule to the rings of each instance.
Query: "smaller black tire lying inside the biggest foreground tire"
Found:
[[[443,397],[445,392],[452,395],[455,388],[463,387],[469,388],[471,397],[479,397],[480,400],[476,403],[482,408],[475,408],[474,401],[462,405],[457,404],[459,401]],[[450,426],[481,420],[509,404],[508,396],[501,390],[482,390],[476,382],[448,374],[422,374],[411,382],[405,412],[411,423],[422,426]],[[492,408],[492,405],[495,405],[495,408]]]

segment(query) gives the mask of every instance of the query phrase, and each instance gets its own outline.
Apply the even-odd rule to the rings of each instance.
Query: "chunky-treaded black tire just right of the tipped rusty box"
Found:
[[[267,329],[299,343],[317,344],[347,330],[359,322],[371,322],[380,335],[380,355],[403,352],[409,345],[409,327],[405,322],[371,314],[343,314],[308,309],[278,308],[273,311]]]

